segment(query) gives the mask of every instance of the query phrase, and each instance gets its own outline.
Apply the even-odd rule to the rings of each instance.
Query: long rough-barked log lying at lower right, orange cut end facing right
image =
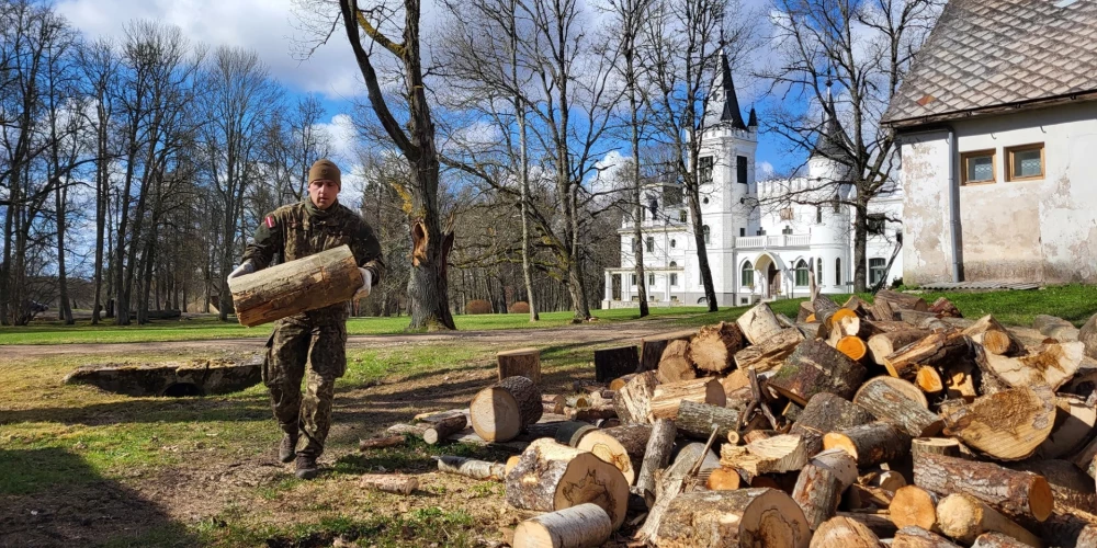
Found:
[[[1054,507],[1048,480],[992,463],[921,454],[914,461],[914,483],[939,495],[966,493],[1018,520],[1047,520]]]

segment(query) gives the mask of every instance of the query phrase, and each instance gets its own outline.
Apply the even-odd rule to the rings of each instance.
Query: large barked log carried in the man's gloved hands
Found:
[[[233,306],[242,326],[346,302],[362,287],[362,273],[347,246],[234,278]]]

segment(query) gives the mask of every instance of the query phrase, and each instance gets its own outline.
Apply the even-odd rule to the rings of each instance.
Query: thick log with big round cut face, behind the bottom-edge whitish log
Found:
[[[624,523],[629,483],[613,465],[592,453],[542,438],[530,444],[507,475],[507,502],[522,510],[555,512],[592,502]]]

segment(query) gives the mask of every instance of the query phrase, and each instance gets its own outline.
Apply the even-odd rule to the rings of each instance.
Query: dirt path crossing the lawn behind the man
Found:
[[[381,347],[405,344],[430,344],[451,341],[480,341],[485,344],[536,344],[539,342],[567,341],[573,343],[612,343],[635,341],[654,333],[676,328],[664,320],[615,322],[601,326],[569,326],[548,329],[506,329],[495,331],[456,331],[452,333],[417,333],[395,335],[352,335],[348,347]],[[199,341],[169,341],[144,343],[75,343],[75,344],[5,344],[0,355],[10,359],[30,359],[46,356],[133,354],[133,353],[197,353],[253,352],[262,349],[262,338],[212,339]]]

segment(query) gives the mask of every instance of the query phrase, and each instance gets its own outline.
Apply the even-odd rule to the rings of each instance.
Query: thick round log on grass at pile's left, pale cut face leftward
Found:
[[[476,435],[486,442],[509,442],[541,420],[541,392],[525,377],[507,377],[473,397],[468,416]]]

